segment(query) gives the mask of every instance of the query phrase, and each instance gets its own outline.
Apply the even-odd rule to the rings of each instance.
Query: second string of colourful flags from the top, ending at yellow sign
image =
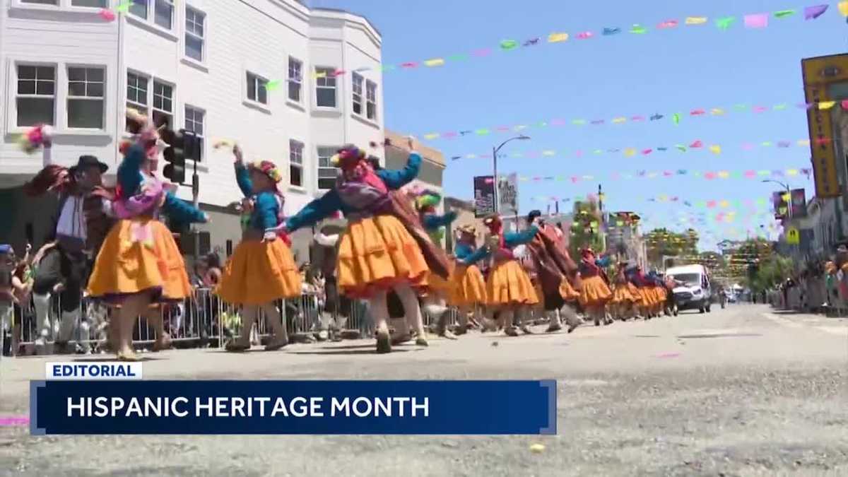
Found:
[[[797,103],[794,105],[795,109],[821,109],[827,110],[832,109],[837,104],[840,104],[842,109],[848,110],[848,100],[843,100],[840,102],[836,101],[821,101],[818,103]],[[522,132],[530,128],[544,128],[548,126],[608,126],[608,125],[622,125],[626,123],[633,122],[649,122],[659,124],[661,120],[670,120],[675,125],[680,124],[680,121],[683,121],[683,118],[696,118],[702,116],[712,116],[712,117],[723,117],[728,115],[731,112],[750,112],[754,114],[762,114],[767,111],[784,111],[790,109],[789,104],[780,103],[774,104],[771,106],[762,106],[762,105],[750,105],[750,104],[734,104],[734,106],[728,107],[717,107],[717,108],[696,108],[689,110],[689,113],[654,113],[651,115],[618,115],[613,117],[610,120],[605,119],[594,119],[587,120],[584,118],[577,118],[572,120],[566,120],[563,118],[554,118],[550,120],[544,121],[536,121],[528,124],[516,124],[510,126],[493,126],[493,127],[478,127],[474,129],[465,129],[460,131],[448,131],[448,132],[427,132],[422,135],[427,140],[434,139],[455,139],[457,137],[473,137],[473,136],[488,136],[490,134],[498,133],[498,132]]]

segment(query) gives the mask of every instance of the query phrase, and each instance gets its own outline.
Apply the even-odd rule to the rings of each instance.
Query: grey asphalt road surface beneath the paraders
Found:
[[[0,475],[848,475],[848,322],[766,306],[471,334],[388,356],[346,341],[150,357],[156,379],[557,379],[559,435],[31,438],[7,427]],[[0,362],[0,417],[28,412],[27,381],[45,361]]]

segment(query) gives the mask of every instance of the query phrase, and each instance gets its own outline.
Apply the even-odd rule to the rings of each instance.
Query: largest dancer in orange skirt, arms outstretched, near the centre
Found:
[[[361,149],[353,145],[340,149],[332,158],[342,170],[336,187],[304,206],[280,227],[292,233],[338,210],[343,212],[349,222],[338,246],[338,288],[343,295],[369,301],[377,328],[378,353],[392,351],[387,323],[389,290],[398,295],[404,312],[416,323],[416,344],[427,345],[413,287],[426,283],[428,263],[420,242],[410,233],[413,225],[401,222],[397,208],[402,205],[392,194],[415,179],[421,168],[421,155],[415,152],[411,138],[409,146],[409,160],[399,171],[375,171]]]

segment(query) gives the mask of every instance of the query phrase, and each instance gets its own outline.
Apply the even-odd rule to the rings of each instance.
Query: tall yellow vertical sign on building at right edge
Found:
[[[812,171],[816,180],[816,195],[822,198],[840,197],[839,163],[834,147],[833,121],[829,109],[818,104],[831,101],[828,85],[848,81],[848,54],[822,56],[801,60],[804,75],[806,119],[810,129]]]

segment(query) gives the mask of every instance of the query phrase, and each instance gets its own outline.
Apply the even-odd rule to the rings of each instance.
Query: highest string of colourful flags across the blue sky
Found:
[[[720,16],[712,19],[717,31],[728,31],[736,25],[742,25],[749,30],[762,30],[769,26],[772,21],[785,22],[792,17],[803,17],[803,20],[816,20],[828,11],[829,4],[809,5],[803,8],[786,8],[773,12],[763,12],[754,14],[745,14],[740,17],[736,16]],[[837,3],[837,8],[840,14],[848,16],[848,2]],[[741,21],[740,21],[741,20]],[[489,48],[476,48],[468,53],[457,53],[445,57],[432,57],[429,59],[417,61],[404,61],[396,65],[382,65],[378,68],[359,68],[354,71],[365,70],[380,70],[388,71],[409,71],[428,68],[440,68],[445,65],[453,65],[462,63],[469,59],[480,59],[491,56],[493,53],[508,53],[516,52],[526,48],[535,48],[544,44],[560,44],[569,40],[576,41],[592,41],[596,38],[610,38],[620,35],[645,35],[652,29],[655,31],[671,31],[671,30],[695,30],[704,28],[710,23],[710,18],[706,16],[687,16],[682,19],[665,19],[660,20],[656,24],[643,25],[632,24],[630,26],[606,26],[600,30],[586,30],[567,33],[565,31],[553,31],[544,36],[533,36],[525,40],[505,39],[501,40],[497,46]],[[331,76],[340,76],[345,74],[344,70],[336,70]],[[325,75],[326,76],[326,75]],[[317,74],[315,77],[321,77]]]

